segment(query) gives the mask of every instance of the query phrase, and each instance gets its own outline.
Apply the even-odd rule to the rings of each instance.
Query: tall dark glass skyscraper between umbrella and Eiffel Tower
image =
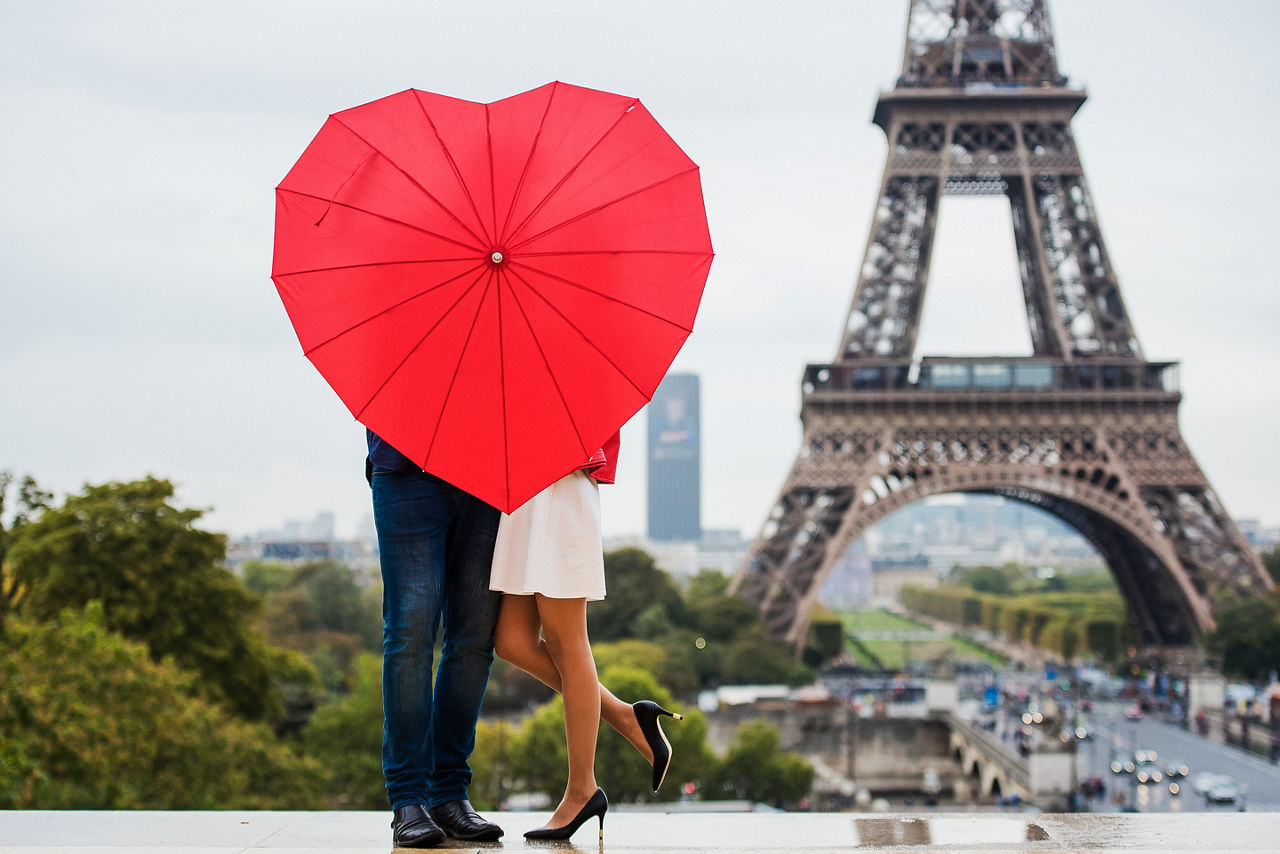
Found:
[[[698,375],[668,374],[649,403],[649,539],[703,534]]]

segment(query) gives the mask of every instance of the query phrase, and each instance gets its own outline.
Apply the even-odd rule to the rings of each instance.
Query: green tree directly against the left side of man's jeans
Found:
[[[325,802],[339,809],[385,809],[383,780],[383,661],[362,654],[347,695],[321,705],[302,731],[307,754],[324,768]]]

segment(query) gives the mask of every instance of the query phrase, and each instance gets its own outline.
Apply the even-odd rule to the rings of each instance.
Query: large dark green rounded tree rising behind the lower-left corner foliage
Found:
[[[19,612],[51,620],[99,600],[109,629],[200,673],[209,697],[250,720],[278,714],[271,657],[251,622],[257,599],[219,566],[225,538],[172,498],[173,485],[154,478],[90,485],[15,529],[8,570]]]

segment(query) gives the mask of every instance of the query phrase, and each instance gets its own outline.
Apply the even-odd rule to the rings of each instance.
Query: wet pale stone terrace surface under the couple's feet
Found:
[[[444,849],[637,851],[1275,851],[1275,813],[655,813],[613,810],[572,842],[525,842],[545,813],[490,813],[502,842]],[[0,812],[0,854],[271,853],[392,850],[389,813]],[[410,849],[402,849],[410,850]]]

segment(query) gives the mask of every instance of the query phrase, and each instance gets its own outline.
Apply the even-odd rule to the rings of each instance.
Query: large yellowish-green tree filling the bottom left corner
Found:
[[[110,631],[100,603],[0,636],[0,808],[311,809],[319,767]]]

